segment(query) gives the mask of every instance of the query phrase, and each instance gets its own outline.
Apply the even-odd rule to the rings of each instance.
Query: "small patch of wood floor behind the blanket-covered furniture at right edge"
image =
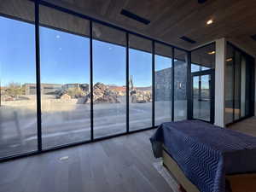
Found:
[[[230,125],[228,128],[256,137],[256,117],[244,119],[241,122]]]

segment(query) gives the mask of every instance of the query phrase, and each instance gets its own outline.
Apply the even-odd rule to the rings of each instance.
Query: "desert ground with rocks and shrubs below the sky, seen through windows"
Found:
[[[49,89],[49,84],[47,86]],[[35,84],[30,84],[29,88],[34,89]],[[36,95],[29,95],[27,89],[24,84],[9,84],[1,88],[2,156],[37,149]],[[151,89],[132,86],[129,91],[131,131],[152,126]],[[44,93],[41,96],[43,148],[90,140],[89,84],[62,84],[56,90],[50,90],[41,90]],[[125,86],[94,84],[94,137],[125,132],[125,94]],[[185,103],[177,101],[176,105],[183,108]],[[156,124],[171,120],[170,101],[156,101],[155,109]]]

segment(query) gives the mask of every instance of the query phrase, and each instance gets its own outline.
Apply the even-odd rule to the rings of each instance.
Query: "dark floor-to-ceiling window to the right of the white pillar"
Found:
[[[225,124],[254,113],[254,59],[227,44],[225,67]]]

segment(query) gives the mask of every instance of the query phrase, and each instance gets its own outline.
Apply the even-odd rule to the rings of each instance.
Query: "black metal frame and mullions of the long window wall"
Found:
[[[170,54],[172,55],[172,74],[174,74],[174,67],[175,67],[175,63],[174,63],[174,49],[178,49],[178,50],[181,50],[181,51],[184,51],[184,53],[187,55],[188,57],[188,60],[187,60],[187,68],[188,68],[188,72],[187,72],[187,89],[186,89],[186,95],[189,96],[189,76],[190,76],[190,73],[189,73],[189,66],[190,66],[190,51],[189,50],[186,50],[186,49],[182,49],[182,48],[179,48],[175,45],[172,45],[172,44],[167,44],[166,42],[163,42],[163,41],[160,41],[160,40],[156,40],[154,38],[149,38],[147,36],[144,36],[143,34],[140,34],[140,33],[137,33],[137,32],[132,32],[130,30],[127,30],[125,28],[122,28],[122,27],[119,27],[119,26],[115,26],[113,24],[110,24],[106,21],[102,21],[102,20],[97,20],[95,18],[92,18],[88,15],[83,15],[83,14],[80,14],[80,13],[77,13],[71,9],[66,9],[66,8],[63,8],[63,7],[60,7],[60,6],[57,6],[53,3],[49,3],[49,2],[46,2],[44,0],[26,0],[26,1],[30,1],[30,2],[33,2],[34,3],[34,12],[35,12],[35,22],[33,23],[34,26],[35,26],[35,43],[36,43],[36,46],[35,46],[35,52],[36,52],[36,80],[37,80],[37,90],[36,90],[36,93],[37,93],[37,132],[38,132],[38,150],[37,151],[32,151],[32,152],[29,152],[29,153],[26,153],[26,154],[14,154],[14,155],[10,155],[10,156],[4,156],[4,157],[0,157],[0,162],[3,162],[3,161],[6,161],[6,160],[14,160],[16,158],[20,158],[20,157],[26,157],[26,156],[29,156],[29,155],[34,155],[34,154],[41,154],[41,153],[45,153],[45,152],[49,152],[49,151],[53,151],[55,149],[61,149],[61,148],[68,148],[68,147],[72,147],[72,146],[76,146],[76,145],[80,145],[80,144],[84,144],[84,143],[93,143],[93,142],[97,142],[97,141],[101,141],[103,139],[108,139],[108,138],[111,138],[111,137],[119,137],[119,136],[124,136],[124,135],[127,135],[127,134],[131,134],[131,133],[135,133],[135,132],[138,132],[138,131],[147,131],[147,130],[150,130],[150,129],[154,129],[156,128],[154,126],[154,44],[157,43],[157,44],[163,44],[163,45],[166,45],[167,47],[170,47]],[[93,49],[92,49],[92,22],[95,22],[95,23],[98,23],[98,24],[102,24],[103,26],[108,26],[108,27],[111,27],[111,28],[114,28],[116,30],[119,30],[121,32],[125,32],[125,66],[126,66],[126,96],[129,97],[129,36],[130,35],[134,35],[134,36],[137,36],[139,38],[145,38],[145,39],[148,39],[149,41],[151,41],[151,44],[152,44],[152,127],[145,127],[143,129],[139,129],[139,130],[135,130],[135,131],[130,131],[129,130],[129,100],[126,99],[126,131],[124,133],[119,133],[119,134],[115,134],[115,135],[110,135],[110,136],[107,136],[107,137],[99,137],[99,138],[94,138],[94,130],[93,130],[93,121],[94,121],[94,117],[93,117],[93,102],[90,102],[90,140],[87,140],[87,141],[83,141],[83,142],[78,142],[78,143],[67,143],[67,144],[63,144],[63,145],[59,145],[59,146],[55,146],[55,147],[52,147],[52,148],[42,148],[42,110],[41,110],[41,89],[40,89],[40,86],[41,86],[41,74],[40,74],[40,31],[39,31],[39,27],[40,26],[44,26],[44,25],[40,25],[40,18],[39,18],[39,11],[40,11],[40,6],[45,6],[47,8],[50,8],[50,9],[55,9],[57,11],[61,11],[63,13],[66,13],[68,15],[73,15],[73,16],[76,16],[76,17],[79,17],[79,18],[82,18],[84,20],[89,20],[90,22],[90,35],[88,38],[90,38],[90,89],[92,90],[92,87],[93,87],[93,56],[92,56],[92,52],[93,52]],[[20,20],[22,22],[27,22],[27,23],[32,23],[31,21],[28,21],[28,20],[22,20],[20,18],[16,18],[14,16],[10,16],[10,15],[3,15],[3,14],[0,14],[0,16],[3,16],[3,17],[7,17],[7,18],[10,18],[10,19],[13,19],[13,20]],[[44,26],[44,27],[49,27],[49,28],[52,28],[50,26]],[[55,30],[59,30],[61,32],[65,32],[61,29],[57,29],[55,28]],[[72,33],[72,32],[69,32],[69,33]],[[76,34],[76,35],[79,35],[79,34]],[[134,49],[134,48],[132,48]],[[172,75],[172,79],[170,79],[171,83],[172,83],[172,121],[174,120],[174,76]],[[128,93],[128,94],[127,94]],[[91,101],[93,101],[93,92],[91,92]],[[189,99],[188,99],[189,100]],[[189,103],[189,102],[188,102]],[[189,110],[189,108],[187,108],[187,110]],[[188,117],[188,115],[187,115]]]

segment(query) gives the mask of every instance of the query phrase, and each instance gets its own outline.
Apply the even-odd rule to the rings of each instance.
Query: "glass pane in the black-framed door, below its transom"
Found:
[[[193,78],[193,118],[210,121],[210,75]]]

